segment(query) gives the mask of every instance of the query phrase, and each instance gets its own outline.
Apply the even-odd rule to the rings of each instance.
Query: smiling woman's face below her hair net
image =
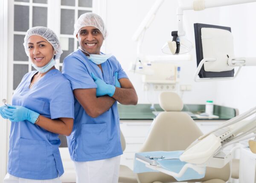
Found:
[[[32,35],[28,40],[29,57],[37,67],[49,63],[54,54],[52,45],[43,37]]]

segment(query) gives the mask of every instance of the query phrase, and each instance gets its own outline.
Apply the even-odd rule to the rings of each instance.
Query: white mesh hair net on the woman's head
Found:
[[[32,35],[38,35],[46,39],[52,45],[53,49],[56,52],[55,59],[59,59],[61,57],[61,54],[63,53],[63,51],[61,50],[61,43],[59,42],[57,35],[51,29],[48,29],[47,27],[41,27],[41,26],[32,27],[26,32],[23,45],[28,57],[29,57],[28,40],[29,40],[29,37]]]

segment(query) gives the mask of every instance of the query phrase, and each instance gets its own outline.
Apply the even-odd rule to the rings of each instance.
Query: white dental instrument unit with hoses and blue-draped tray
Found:
[[[232,160],[232,152],[241,147],[235,146],[231,150],[227,150],[227,146],[238,143],[242,140],[256,137],[256,107],[233,117],[227,122],[218,126],[217,129],[202,135],[195,142],[193,142],[184,152],[179,156],[173,157],[177,152],[144,152],[144,154],[137,153],[136,160],[145,164],[149,169],[169,174],[175,179],[191,180],[197,175],[203,174],[206,167],[222,168]],[[245,120],[246,118],[250,118]],[[256,141],[249,140],[249,146],[252,152],[256,152]],[[225,149],[226,148],[226,149]],[[157,153],[157,154],[155,154]],[[141,156],[144,156],[143,158]],[[148,158],[147,156],[163,158]],[[165,157],[167,157],[165,160]],[[171,157],[171,158],[170,158]],[[175,166],[180,169],[174,169],[174,163],[170,159],[179,159],[175,161]],[[169,164],[166,164],[169,161]],[[190,174],[189,171],[193,169],[197,174]],[[195,173],[194,172],[194,173]],[[189,177],[188,177],[189,174]],[[184,179],[184,177],[186,179]]]

